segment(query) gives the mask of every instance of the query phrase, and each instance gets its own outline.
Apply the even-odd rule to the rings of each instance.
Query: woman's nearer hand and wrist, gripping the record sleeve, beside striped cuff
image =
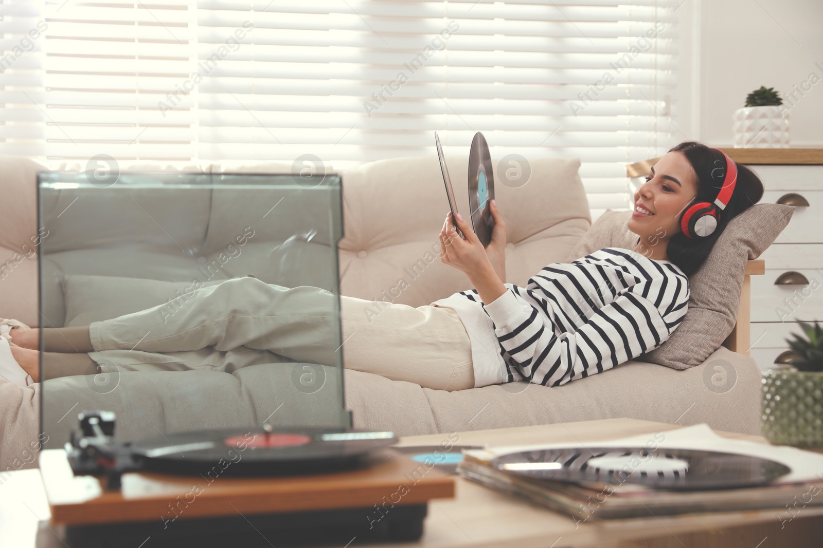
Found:
[[[449,211],[439,235],[440,262],[466,273],[484,303],[494,302],[506,292],[506,288],[486,255],[486,249],[472,230],[472,225],[464,221],[460,214],[456,220],[466,239],[463,240],[454,230],[452,212]]]

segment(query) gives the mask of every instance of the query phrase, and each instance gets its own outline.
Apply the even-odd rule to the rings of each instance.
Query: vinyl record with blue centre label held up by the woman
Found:
[[[480,131],[474,134],[468,155],[468,205],[472,213],[472,228],[483,247],[491,242],[495,221],[489,202],[495,199],[495,175],[486,138]]]

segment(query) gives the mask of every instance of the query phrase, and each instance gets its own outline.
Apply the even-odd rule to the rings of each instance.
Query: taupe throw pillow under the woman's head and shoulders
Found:
[[[795,206],[755,204],[732,219],[709,258],[689,279],[686,316],[666,342],[635,359],[673,369],[699,366],[720,348],[737,323],[746,261],[756,259],[786,228]],[[634,249],[626,228],[631,211],[606,210],[572,248],[570,262],[603,247]],[[756,227],[756,228],[755,228]]]

